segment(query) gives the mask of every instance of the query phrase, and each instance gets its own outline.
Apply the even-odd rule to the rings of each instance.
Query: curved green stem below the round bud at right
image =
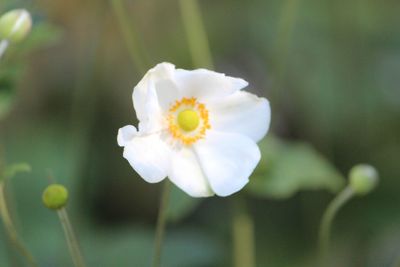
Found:
[[[326,261],[327,252],[330,244],[332,222],[339,209],[354,196],[354,191],[350,186],[345,187],[332,201],[322,216],[319,228],[319,250],[321,260]]]

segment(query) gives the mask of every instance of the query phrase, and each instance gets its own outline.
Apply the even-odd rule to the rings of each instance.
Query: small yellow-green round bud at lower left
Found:
[[[42,200],[44,205],[49,209],[61,209],[67,204],[68,191],[60,184],[49,185],[43,192]]]

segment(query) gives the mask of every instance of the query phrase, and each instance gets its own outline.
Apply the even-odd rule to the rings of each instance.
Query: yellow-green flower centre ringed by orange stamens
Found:
[[[211,128],[208,110],[196,98],[182,98],[175,101],[167,116],[168,130],[174,139],[184,145],[191,145],[204,138]]]

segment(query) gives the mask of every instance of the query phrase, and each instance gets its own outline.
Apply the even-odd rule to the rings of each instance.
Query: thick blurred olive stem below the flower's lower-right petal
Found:
[[[247,210],[245,199],[242,197],[235,199],[233,204],[234,266],[254,267],[256,266],[254,221]]]

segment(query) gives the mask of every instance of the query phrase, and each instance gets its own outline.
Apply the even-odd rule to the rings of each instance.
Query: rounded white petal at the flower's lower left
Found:
[[[170,152],[159,134],[151,134],[136,136],[126,144],[124,158],[144,180],[157,183],[169,172]]]

